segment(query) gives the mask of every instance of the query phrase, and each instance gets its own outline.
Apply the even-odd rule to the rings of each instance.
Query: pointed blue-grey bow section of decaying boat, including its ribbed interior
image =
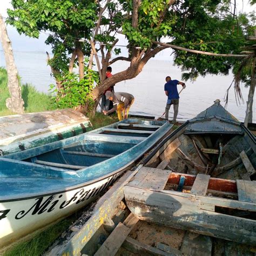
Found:
[[[149,166],[225,179],[254,180],[256,138],[220,105],[219,100],[172,133]]]

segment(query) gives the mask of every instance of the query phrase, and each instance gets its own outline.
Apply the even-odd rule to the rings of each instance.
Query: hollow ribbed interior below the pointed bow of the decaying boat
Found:
[[[150,161],[156,167],[166,161],[166,169],[187,174],[209,174],[225,179],[256,179],[255,138],[246,132],[190,132],[185,126],[170,138]],[[248,172],[247,164],[251,166]]]

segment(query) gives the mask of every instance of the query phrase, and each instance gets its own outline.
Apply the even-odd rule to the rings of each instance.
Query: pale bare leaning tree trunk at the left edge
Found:
[[[14,53],[11,48],[11,41],[0,14],[0,38],[4,50],[4,57],[6,62],[6,70],[8,74],[8,89],[10,98],[6,99],[6,107],[15,113],[24,113],[24,101],[22,99],[21,87],[18,83],[18,70],[14,62]]]

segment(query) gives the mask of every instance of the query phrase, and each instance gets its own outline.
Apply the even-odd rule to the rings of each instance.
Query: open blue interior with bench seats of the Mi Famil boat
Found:
[[[126,119],[102,129],[65,139],[62,143],[51,143],[37,150],[18,152],[6,158],[65,170],[80,170],[131,149],[164,123]]]

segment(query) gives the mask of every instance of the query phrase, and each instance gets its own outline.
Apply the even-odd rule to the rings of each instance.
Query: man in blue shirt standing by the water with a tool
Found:
[[[186,85],[183,82],[179,82],[178,80],[172,80],[171,77],[167,76],[165,78],[166,84],[164,85],[165,95],[168,96],[167,104],[165,107],[165,120],[169,119],[169,110],[171,105],[173,104],[173,120],[172,123],[175,124],[176,118],[178,116],[179,109],[179,93],[177,90],[177,84],[181,84],[183,89],[185,89]]]

